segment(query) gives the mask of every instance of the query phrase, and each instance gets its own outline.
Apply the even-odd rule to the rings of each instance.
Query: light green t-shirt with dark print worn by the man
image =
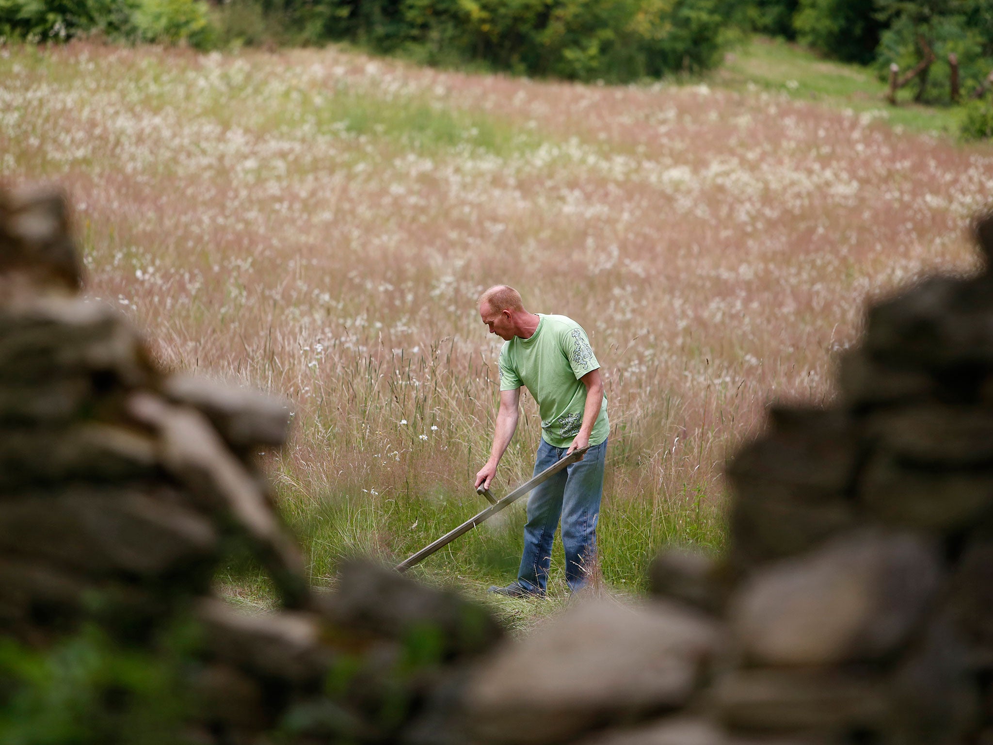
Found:
[[[586,385],[579,378],[597,370],[590,340],[578,323],[565,316],[538,315],[538,328],[528,339],[514,337],[499,353],[499,389],[521,384],[531,391],[541,414],[541,436],[553,447],[572,444],[583,424]],[[607,396],[590,433],[590,445],[607,439]]]

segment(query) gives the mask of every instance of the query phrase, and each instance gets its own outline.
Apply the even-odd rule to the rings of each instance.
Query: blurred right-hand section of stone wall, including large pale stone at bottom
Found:
[[[505,646],[477,741],[993,742],[993,274],[872,307],[837,403],[774,407],[727,474],[726,555],[666,551],[652,601]]]

